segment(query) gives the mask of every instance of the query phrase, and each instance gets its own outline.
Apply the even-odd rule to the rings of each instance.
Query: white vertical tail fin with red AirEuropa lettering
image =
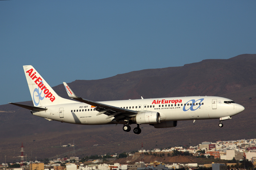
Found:
[[[48,83],[33,68],[32,65],[23,65],[26,80],[34,106],[58,105],[64,103],[75,103],[76,101],[64,99],[53,91]]]

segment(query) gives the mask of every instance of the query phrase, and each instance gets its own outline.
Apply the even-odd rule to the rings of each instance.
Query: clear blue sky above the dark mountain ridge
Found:
[[[256,1],[0,1],[0,105],[49,85],[256,54]]]

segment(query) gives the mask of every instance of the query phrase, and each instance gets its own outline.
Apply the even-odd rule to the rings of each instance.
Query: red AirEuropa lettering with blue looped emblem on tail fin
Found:
[[[36,106],[38,106],[40,100],[43,100],[44,97],[45,98],[49,98],[49,100],[51,102],[53,102],[55,100],[55,96],[52,95],[52,93],[49,91],[49,89],[47,89],[47,87],[45,87],[44,82],[42,81],[41,77],[37,77],[36,76],[36,72],[33,73],[33,68],[31,68],[30,70],[26,71],[26,73],[29,74],[29,77],[32,80],[35,80],[35,84],[38,85],[38,88],[35,88],[34,93],[33,93],[33,101],[35,103]],[[41,90],[41,92],[40,92]],[[35,102],[35,92],[38,94],[37,96],[39,97],[39,101]],[[42,92],[44,92],[44,96],[42,96]]]

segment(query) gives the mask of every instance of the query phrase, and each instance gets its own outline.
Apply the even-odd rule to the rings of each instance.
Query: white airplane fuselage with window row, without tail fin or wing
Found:
[[[134,99],[99,102],[143,113],[160,113],[161,122],[196,119],[219,119],[234,116],[244,107],[232,100],[217,96],[189,96],[158,99]],[[105,125],[123,122],[106,119],[107,115],[96,116],[93,106],[82,102],[44,106],[47,111],[34,112],[36,116],[47,119],[82,125]]]

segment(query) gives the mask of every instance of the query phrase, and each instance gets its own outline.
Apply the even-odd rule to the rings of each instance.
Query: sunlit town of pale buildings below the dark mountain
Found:
[[[67,144],[62,147],[72,147]],[[120,153],[113,155],[95,155],[79,158],[76,156],[41,161],[24,161],[23,146],[21,147],[20,162],[4,162],[1,170],[256,170],[256,139],[241,139],[236,141],[202,142],[196,146],[176,146],[142,149],[137,152]],[[147,156],[153,156],[154,161],[145,161]],[[210,164],[181,163],[169,161],[174,156],[191,156],[201,159],[210,159]],[[164,159],[163,159],[164,158]],[[121,160],[122,161],[117,161]],[[134,160],[136,162],[134,162]],[[139,161],[138,161],[139,160]],[[163,161],[160,161],[163,160]],[[226,163],[220,163],[220,161]],[[124,162],[125,163],[117,163]],[[216,162],[216,163],[214,163]]]

